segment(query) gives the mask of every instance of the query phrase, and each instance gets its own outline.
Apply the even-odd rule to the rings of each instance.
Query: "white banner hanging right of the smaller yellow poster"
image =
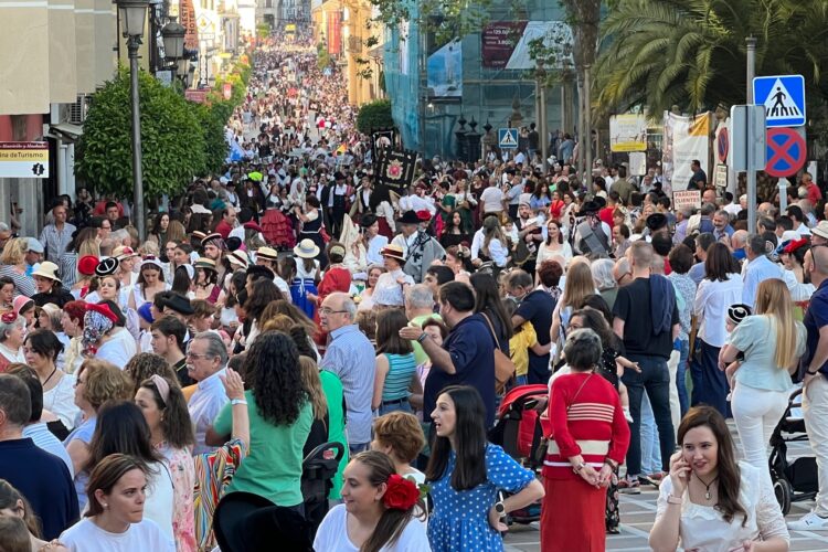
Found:
[[[665,193],[672,190],[687,190],[693,171],[693,159],[701,162],[705,174],[710,174],[708,163],[710,148],[710,120],[712,113],[684,117],[665,112],[665,134],[661,168],[665,179]],[[708,177],[710,178],[710,177]]]

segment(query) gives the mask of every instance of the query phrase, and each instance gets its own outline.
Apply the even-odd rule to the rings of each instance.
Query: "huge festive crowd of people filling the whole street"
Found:
[[[655,171],[580,179],[522,150],[421,160],[396,193],[309,39],[253,60],[226,170],[148,236],[86,190],[39,237],[0,227],[0,550],[502,550],[540,505],[542,550],[599,551],[641,485],[660,489],[655,550],[828,529],[809,174],[753,229],[698,171],[701,206],[673,210]],[[786,526],[766,447],[798,384],[820,491]],[[548,386],[534,463],[490,442],[530,385]],[[321,502],[320,446],[342,453]]]

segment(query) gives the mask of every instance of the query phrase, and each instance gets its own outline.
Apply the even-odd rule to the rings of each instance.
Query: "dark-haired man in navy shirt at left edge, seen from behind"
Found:
[[[63,461],[23,438],[32,402],[20,378],[0,374],[0,479],[18,489],[43,522],[43,538],[56,539],[78,518],[77,495]]]

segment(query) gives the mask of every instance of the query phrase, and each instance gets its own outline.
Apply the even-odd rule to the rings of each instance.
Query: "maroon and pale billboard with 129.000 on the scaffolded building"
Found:
[[[564,51],[572,44],[572,29],[563,21],[496,21],[480,33],[482,66],[487,68],[531,70],[535,63],[529,55],[530,44],[543,39],[546,47],[556,47],[559,57],[572,63]]]

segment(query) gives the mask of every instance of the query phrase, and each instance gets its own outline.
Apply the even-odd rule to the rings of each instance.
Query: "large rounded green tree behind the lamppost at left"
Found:
[[[141,153],[147,198],[174,194],[204,172],[204,130],[189,102],[145,72],[139,74]],[[98,192],[132,195],[129,72],[95,93],[78,145],[75,172]]]

